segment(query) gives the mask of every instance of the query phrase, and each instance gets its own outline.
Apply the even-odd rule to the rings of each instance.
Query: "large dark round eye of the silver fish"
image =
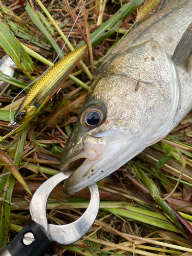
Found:
[[[90,105],[82,111],[80,124],[86,127],[95,127],[104,121],[105,116],[101,105]]]

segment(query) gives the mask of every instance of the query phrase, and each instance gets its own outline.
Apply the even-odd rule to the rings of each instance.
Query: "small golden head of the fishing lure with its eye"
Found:
[[[35,105],[26,106],[26,107],[23,107],[23,105],[21,105],[14,115],[14,121],[25,122],[30,117],[32,117],[36,111],[37,111],[37,107]]]

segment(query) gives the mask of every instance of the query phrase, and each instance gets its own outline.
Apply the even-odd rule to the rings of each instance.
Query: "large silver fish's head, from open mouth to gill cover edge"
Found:
[[[99,181],[160,140],[179,92],[174,62],[157,41],[112,56],[97,72],[63,151],[60,169],[74,169],[63,191],[74,194]]]

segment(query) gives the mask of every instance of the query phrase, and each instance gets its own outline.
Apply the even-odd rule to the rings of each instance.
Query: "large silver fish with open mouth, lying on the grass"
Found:
[[[66,194],[113,173],[192,109],[191,13],[192,0],[168,2],[105,58],[61,157],[62,171],[82,163]]]

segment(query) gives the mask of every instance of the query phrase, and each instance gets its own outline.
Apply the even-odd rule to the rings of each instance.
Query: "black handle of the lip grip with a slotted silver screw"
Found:
[[[31,237],[34,237],[33,242],[28,239],[29,233]],[[28,243],[31,244],[27,245]],[[7,247],[12,256],[44,256],[52,244],[53,241],[49,239],[45,229],[31,220]]]

